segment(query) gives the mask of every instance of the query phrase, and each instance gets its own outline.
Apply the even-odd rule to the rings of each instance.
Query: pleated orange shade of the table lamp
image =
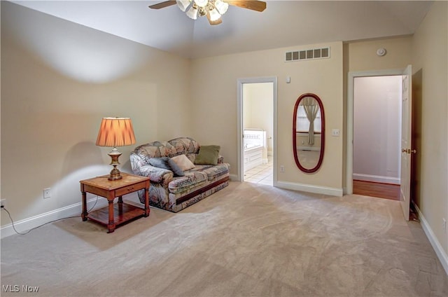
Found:
[[[130,146],[135,144],[130,118],[103,118],[99,126],[97,146]]]

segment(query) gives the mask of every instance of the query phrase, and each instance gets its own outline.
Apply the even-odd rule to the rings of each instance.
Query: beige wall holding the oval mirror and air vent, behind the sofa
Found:
[[[287,50],[325,46],[331,48],[330,59],[283,62]],[[197,115],[193,120],[193,137],[220,144],[232,174],[237,174],[237,79],[277,76],[277,166],[284,165],[286,169],[279,172],[279,181],[342,189],[342,135],[325,135],[321,169],[304,174],[295,165],[291,133],[295,101],[305,92],[314,92],[322,99],[327,131],[339,129],[343,134],[342,42],[198,59],[192,62],[191,73],[192,103]],[[291,77],[291,83],[286,83],[287,76]],[[204,129],[204,125],[208,128]]]

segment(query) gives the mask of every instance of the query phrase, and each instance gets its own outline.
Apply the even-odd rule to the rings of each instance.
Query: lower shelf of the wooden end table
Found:
[[[125,202],[116,203],[113,205],[113,221],[116,226],[127,223],[128,221],[132,221],[144,215],[145,209],[141,209],[140,207],[136,207],[134,205],[129,205]],[[94,212],[89,212],[89,214],[87,214],[87,218],[107,226],[109,224],[109,207],[103,207],[95,210]]]

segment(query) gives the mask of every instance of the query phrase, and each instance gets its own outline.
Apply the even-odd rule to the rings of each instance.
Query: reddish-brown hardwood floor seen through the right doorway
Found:
[[[400,200],[400,185],[381,184],[353,179],[353,194]]]

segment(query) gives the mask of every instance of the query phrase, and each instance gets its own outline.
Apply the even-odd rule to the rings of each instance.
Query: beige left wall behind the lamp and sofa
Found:
[[[80,179],[110,172],[110,148],[95,146],[104,116],[132,118],[137,144],[189,134],[189,67],[181,57],[2,1],[1,198],[13,219],[78,203]],[[120,148],[124,171],[133,148]],[[51,198],[43,200],[43,188]]]

